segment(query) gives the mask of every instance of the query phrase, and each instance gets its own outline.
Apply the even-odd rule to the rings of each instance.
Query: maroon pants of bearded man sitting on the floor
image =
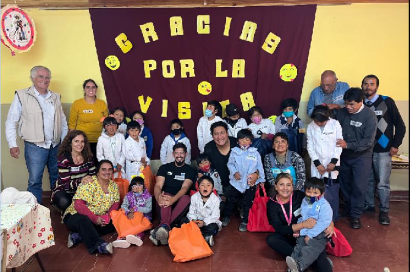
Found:
[[[172,196],[170,193],[165,193],[165,195]],[[161,217],[159,225],[167,225],[171,228],[171,224],[176,223],[176,221],[182,218],[185,213],[188,211],[189,205],[191,203],[191,198],[187,195],[182,196],[178,199],[177,202],[172,204],[169,207],[159,207],[158,203],[156,204],[156,209],[158,214]]]

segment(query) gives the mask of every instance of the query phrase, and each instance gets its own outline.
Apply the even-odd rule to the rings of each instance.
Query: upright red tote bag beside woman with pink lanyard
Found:
[[[259,189],[262,188],[263,197],[260,196]],[[268,222],[267,208],[269,197],[266,195],[265,188],[258,184],[255,192],[255,199],[249,210],[248,230],[260,232],[274,232],[275,229]]]

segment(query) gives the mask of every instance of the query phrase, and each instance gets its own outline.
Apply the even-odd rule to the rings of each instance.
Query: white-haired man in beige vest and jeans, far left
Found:
[[[57,150],[67,134],[66,115],[61,107],[60,95],[48,89],[51,71],[44,66],[30,70],[33,85],[17,90],[6,120],[6,140],[11,157],[18,159],[20,149],[16,143],[16,129],[24,139],[24,158],[29,171],[27,190],[42,203],[42,180],[47,165],[50,188],[58,178]]]

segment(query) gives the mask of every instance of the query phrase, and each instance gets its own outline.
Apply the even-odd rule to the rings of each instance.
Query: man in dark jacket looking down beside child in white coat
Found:
[[[345,107],[339,110],[337,120],[343,130],[343,148],[340,156],[340,188],[347,202],[350,226],[361,228],[360,216],[364,208],[368,177],[372,170],[372,153],[375,144],[377,118],[373,110],[363,104],[364,91],[350,88],[343,96]]]

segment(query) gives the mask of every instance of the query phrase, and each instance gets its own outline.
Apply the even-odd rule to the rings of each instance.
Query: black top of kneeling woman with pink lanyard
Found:
[[[294,190],[292,195],[292,221],[291,225],[288,226],[288,222],[286,222],[285,216],[283,214],[282,207],[279,203],[275,202],[276,197],[274,197],[273,201],[270,199],[267,203],[267,212],[268,212],[268,221],[269,224],[273,226],[275,231],[283,236],[292,235],[293,229],[292,225],[298,222],[300,217],[300,206],[302,205],[302,200],[305,197],[304,192],[299,190]],[[289,209],[291,206],[291,202],[283,204],[283,208],[286,211],[286,216],[289,218]],[[295,212],[296,211],[296,212]]]

